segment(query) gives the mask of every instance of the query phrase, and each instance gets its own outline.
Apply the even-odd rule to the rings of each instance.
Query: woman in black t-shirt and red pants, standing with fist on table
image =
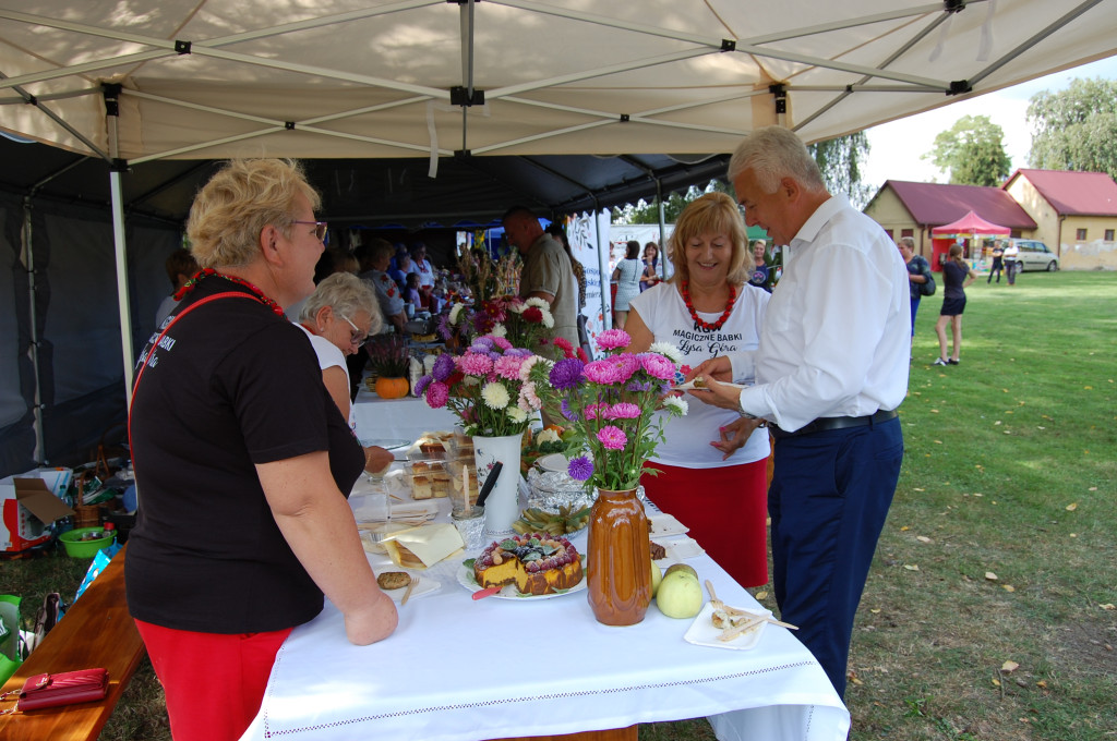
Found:
[[[351,643],[395,629],[345,501],[364,453],[284,314],[314,291],[317,205],[292,162],[214,174],[187,223],[202,270],[136,367],[125,585],[175,741],[240,738],[323,596]]]

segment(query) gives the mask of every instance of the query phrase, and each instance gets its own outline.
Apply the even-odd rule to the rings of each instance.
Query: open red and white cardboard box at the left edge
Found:
[[[73,473],[40,469],[0,480],[0,551],[19,552],[50,539],[55,520],[74,514],[61,500]]]

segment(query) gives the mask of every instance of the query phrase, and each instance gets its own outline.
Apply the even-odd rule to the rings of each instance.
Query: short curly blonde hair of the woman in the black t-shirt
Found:
[[[295,221],[295,198],[322,203],[294,160],[230,160],[198,191],[187,237],[202,268],[246,266],[259,254],[260,232],[271,224],[284,234]]]

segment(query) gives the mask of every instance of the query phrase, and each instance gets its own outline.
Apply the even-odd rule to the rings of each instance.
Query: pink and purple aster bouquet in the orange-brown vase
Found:
[[[547,371],[548,383],[537,384],[544,396],[556,398],[575,431],[571,449],[581,454],[567,472],[599,489],[636,489],[643,462],[663,440],[655,413],[687,413],[685,401],[666,396],[678,372],[678,349],[656,343],[646,353],[623,352],[631,341],[621,329],[604,331],[598,348],[605,357],[592,363],[563,358]]]

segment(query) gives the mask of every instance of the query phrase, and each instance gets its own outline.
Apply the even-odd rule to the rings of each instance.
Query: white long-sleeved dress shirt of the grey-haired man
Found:
[[[817,417],[865,416],[907,394],[911,308],[896,246],[843,196],[825,201],[784,251],[741,408],[794,432]]]

